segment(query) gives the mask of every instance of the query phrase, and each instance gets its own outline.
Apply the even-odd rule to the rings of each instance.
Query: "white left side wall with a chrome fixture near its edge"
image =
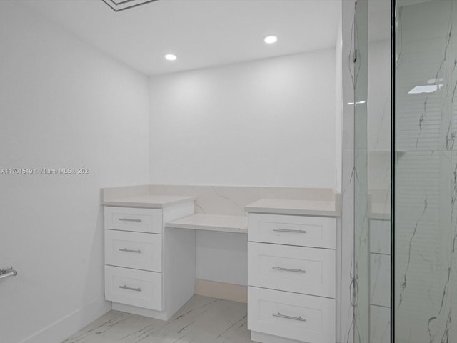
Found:
[[[0,174],[0,342],[56,343],[104,301],[101,187],[148,182],[145,76],[0,1],[0,169],[88,167],[88,175]],[[27,339],[29,337],[29,339]]]

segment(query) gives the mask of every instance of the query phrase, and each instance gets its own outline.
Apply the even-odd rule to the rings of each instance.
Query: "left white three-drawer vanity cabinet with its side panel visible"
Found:
[[[167,200],[156,201],[159,208],[104,207],[105,299],[113,309],[167,320],[194,295],[195,232],[164,229],[194,213],[194,202]]]

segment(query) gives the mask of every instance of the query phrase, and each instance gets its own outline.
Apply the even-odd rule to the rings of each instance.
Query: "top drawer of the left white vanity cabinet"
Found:
[[[105,206],[105,229],[162,233],[162,210]]]

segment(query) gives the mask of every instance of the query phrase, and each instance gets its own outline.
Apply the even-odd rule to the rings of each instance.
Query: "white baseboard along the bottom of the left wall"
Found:
[[[111,302],[100,299],[68,314],[19,343],[60,343],[110,310]]]

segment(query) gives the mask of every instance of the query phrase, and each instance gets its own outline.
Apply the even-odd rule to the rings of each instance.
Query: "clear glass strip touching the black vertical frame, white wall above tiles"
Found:
[[[391,341],[391,1],[368,0],[369,341]]]

